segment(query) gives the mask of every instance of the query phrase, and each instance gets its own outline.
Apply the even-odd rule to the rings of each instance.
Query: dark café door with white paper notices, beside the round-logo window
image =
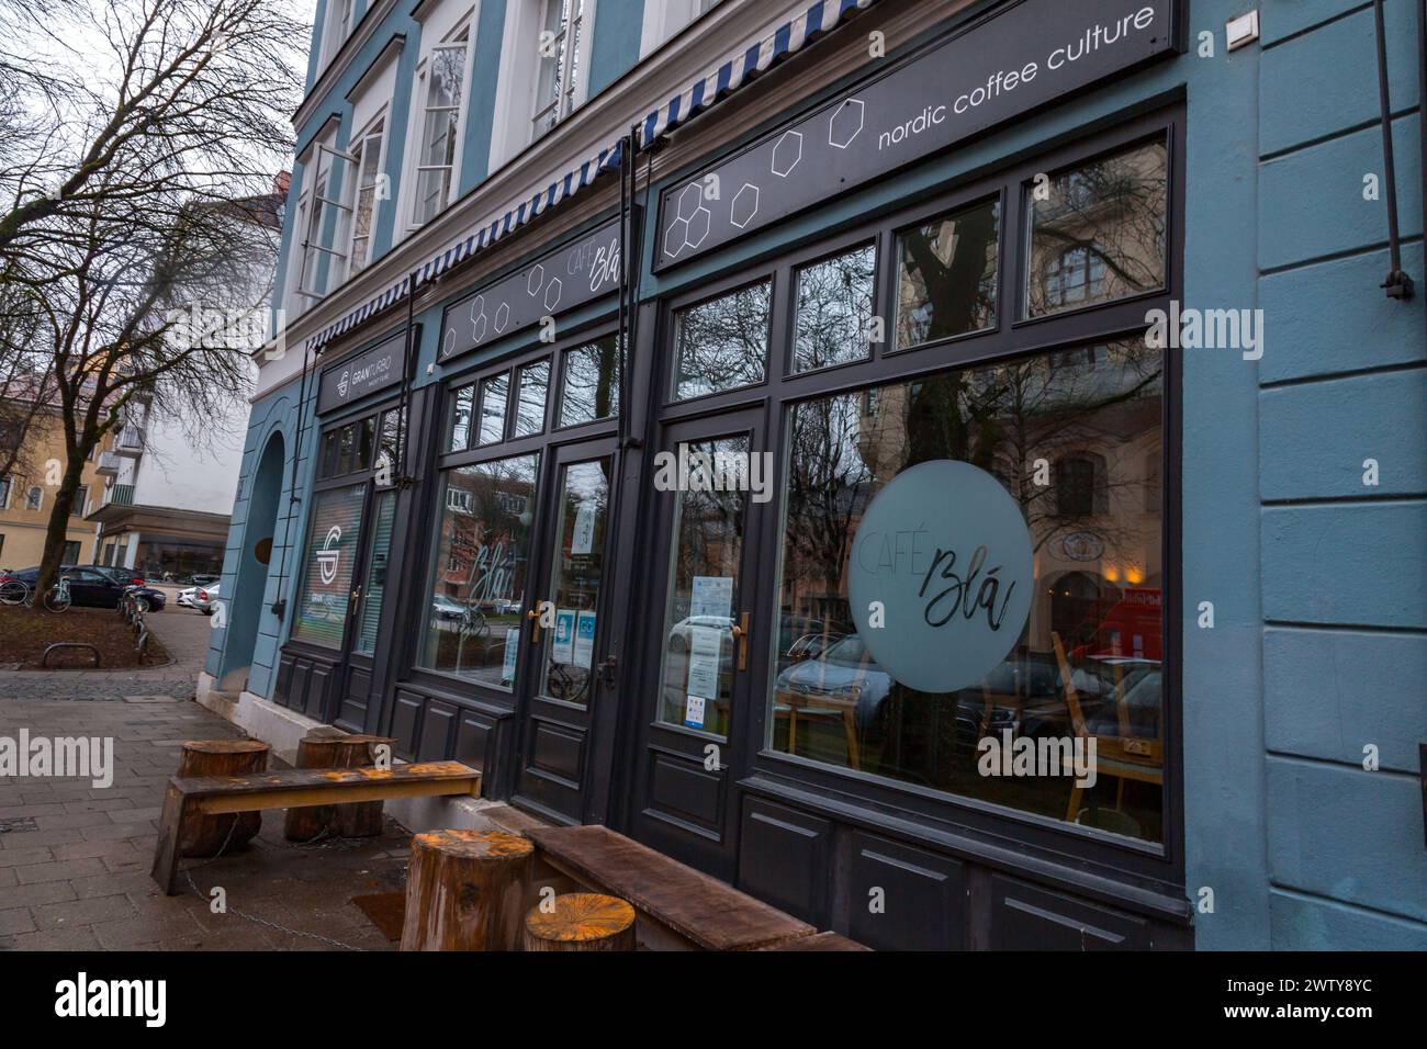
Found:
[[[638,765],[631,769],[631,833],[719,878],[733,876],[732,781],[758,676],[753,615],[762,507],[751,498],[766,447],[762,412],[729,412],[665,428],[669,457],[655,472],[656,548],[641,638],[648,672]],[[656,460],[658,462],[658,460]]]

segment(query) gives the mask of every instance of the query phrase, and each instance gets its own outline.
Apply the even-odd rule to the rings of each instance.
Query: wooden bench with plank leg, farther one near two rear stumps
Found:
[[[338,805],[387,798],[478,795],[481,774],[455,761],[348,769],[281,769],[253,776],[173,776],[164,794],[153,878],[178,891],[178,839],[186,815]]]

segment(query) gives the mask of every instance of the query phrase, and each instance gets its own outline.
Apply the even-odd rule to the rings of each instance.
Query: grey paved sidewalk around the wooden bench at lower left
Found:
[[[56,675],[24,676],[43,684],[19,698],[0,685],[0,736],[16,738],[20,728],[31,738],[113,736],[114,782],[0,776],[0,951],[338,949],[291,931],[367,951],[395,946],[351,903],[401,888],[408,838],[395,824],[362,842],[294,846],[283,839],[283,812],[265,812],[245,852],[184,861],[201,892],[225,891],[225,913],[214,913],[184,876],[183,892],[164,896],[148,868],[180,744],[241,732],[191,698],[173,698],[184,694],[180,681],[124,675],[81,684],[70,674],[66,692],[51,685]],[[186,689],[191,696],[191,676]],[[81,696],[103,702],[71,702]]]

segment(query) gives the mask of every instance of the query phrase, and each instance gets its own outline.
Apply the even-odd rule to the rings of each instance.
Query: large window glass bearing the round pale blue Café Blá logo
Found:
[[[977,260],[987,243],[977,241]],[[1162,842],[1162,370],[1159,350],[1124,341],[792,407],[768,746]],[[1057,465],[1037,475],[1039,462]],[[960,478],[958,500],[1005,507],[1002,527],[1017,532],[1029,578],[1009,578],[1016,569],[999,561],[1000,535],[923,545],[918,537],[932,532],[916,515],[935,494],[915,484],[876,502],[895,478],[926,465]],[[692,621],[682,617],[692,617],[695,578],[732,572],[739,538],[733,502],[684,497],[671,637]],[[878,627],[858,615],[855,577],[893,564],[909,567],[912,587]],[[1027,599],[1025,619],[1013,621],[1019,638],[996,635],[1007,607]],[[935,628],[938,644],[882,665],[872,652],[882,638],[868,635],[896,631],[902,615]],[[983,667],[969,644],[979,637],[996,638],[1005,658]],[[959,652],[969,655],[969,684],[905,684],[938,678]],[[929,678],[919,661],[935,664]],[[678,719],[681,689],[661,695],[664,718]],[[989,766],[987,739],[1007,759],[1029,746],[1066,769],[1093,744],[1097,776],[1092,785],[1017,775],[1000,759]]]

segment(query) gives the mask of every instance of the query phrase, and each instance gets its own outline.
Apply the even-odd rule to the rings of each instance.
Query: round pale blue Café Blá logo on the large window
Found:
[[[968,462],[903,470],[872,500],[852,544],[858,634],[882,669],[920,692],[953,692],[997,667],[1020,638],[1033,589],[1020,507]]]

